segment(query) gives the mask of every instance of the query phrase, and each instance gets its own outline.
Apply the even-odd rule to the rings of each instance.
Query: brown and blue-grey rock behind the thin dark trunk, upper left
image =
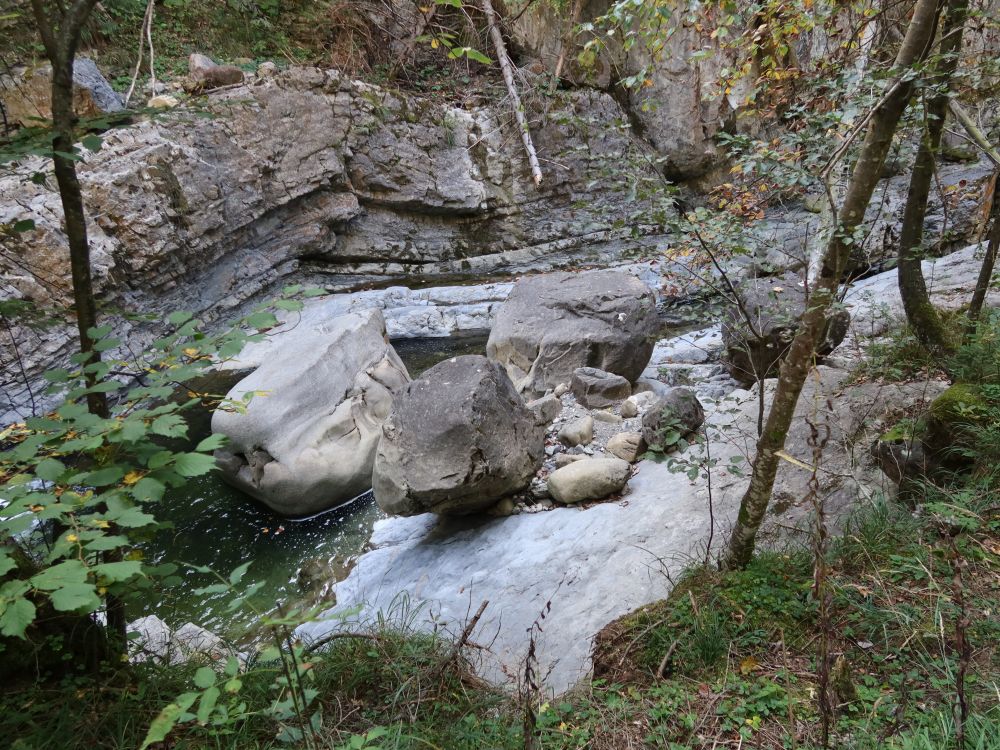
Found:
[[[0,100],[12,125],[39,125],[38,118],[52,119],[52,66],[26,69],[13,76],[0,76]],[[97,117],[124,109],[121,97],[101,75],[93,60],[77,58],[73,63],[73,111],[78,117]]]

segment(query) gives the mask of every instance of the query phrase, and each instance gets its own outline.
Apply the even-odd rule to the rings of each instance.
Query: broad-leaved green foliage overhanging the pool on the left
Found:
[[[289,288],[280,306],[296,309],[301,292]],[[261,309],[242,325],[209,333],[190,314],[174,313],[167,334],[140,357],[105,325],[88,332],[103,360],[75,355],[75,369],[46,373],[49,393],[62,404],[0,433],[9,446],[0,455],[4,636],[28,637],[43,611],[89,615],[173,574],[174,565],[147,565],[138,543],[157,528],[156,503],[166,489],[212,471],[212,451],[222,444],[211,437],[187,450],[177,441],[187,437],[194,410],[243,406],[185,383],[260,340],[275,322]],[[113,404],[107,418],[83,403],[96,392]]]

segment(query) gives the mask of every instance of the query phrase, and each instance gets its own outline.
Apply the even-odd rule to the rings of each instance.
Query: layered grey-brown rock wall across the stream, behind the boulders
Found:
[[[662,231],[629,225],[625,186],[588,172],[586,154],[628,148],[617,125],[627,117],[601,92],[559,96],[559,111],[585,113],[585,125],[550,117],[533,132],[539,156],[568,167],[546,174],[541,190],[503,107],[450,106],[315,68],[212,92],[204,106],[215,117],[167,114],[107,131],[78,165],[94,286],[107,310],[161,318],[187,310],[212,321],[293,282],[344,292],[552,270],[621,257]],[[53,180],[29,179],[49,168],[29,158],[0,176],[0,224],[36,226],[5,239],[0,298],[63,308],[59,196]],[[106,322],[137,350],[163,330]],[[44,340],[26,326],[11,333],[37,396],[41,371],[75,350],[75,331],[59,326]],[[0,360],[13,362],[0,338]],[[30,411],[22,381],[18,368],[3,368],[9,405],[0,408],[11,419]]]

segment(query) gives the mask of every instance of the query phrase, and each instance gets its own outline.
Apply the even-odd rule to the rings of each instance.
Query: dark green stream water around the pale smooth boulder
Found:
[[[393,345],[410,375],[416,377],[448,357],[485,353],[486,335],[403,339]],[[193,432],[207,430],[207,420],[192,426]],[[204,434],[192,435],[194,440],[201,437]],[[253,627],[255,609],[266,612],[282,602],[322,600],[324,592],[318,584],[347,575],[352,561],[364,550],[372,525],[383,517],[368,493],[312,518],[282,518],[229,487],[215,473],[171,492],[157,516],[171,527],[145,545],[147,561],[187,565],[180,565],[182,582],[178,585],[141,592],[131,603],[130,617],[155,614],[174,627],[193,622],[232,640]],[[245,562],[251,565],[243,583],[262,584],[252,606],[230,612],[230,594],[193,593],[217,580],[189,566],[208,566],[228,576]]]

